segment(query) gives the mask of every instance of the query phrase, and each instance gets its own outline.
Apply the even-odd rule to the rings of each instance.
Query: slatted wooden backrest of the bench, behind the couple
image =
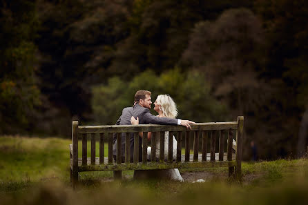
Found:
[[[164,162],[164,132],[169,131],[169,153],[168,162],[173,163],[173,135],[177,138],[176,162],[181,162],[182,141],[185,143],[185,162],[189,162],[190,146],[189,138],[193,133],[193,162],[198,162],[199,137],[202,137],[202,162],[206,161],[207,139],[211,138],[210,161],[215,161],[215,139],[219,135],[219,161],[223,160],[224,142],[227,138],[227,161],[232,161],[232,149],[235,149],[235,164],[240,164],[242,160],[242,133],[244,117],[239,116],[237,121],[197,123],[187,130],[183,126],[162,126],[154,124],[142,125],[105,125],[105,126],[79,126],[78,121],[73,121],[72,141],[73,141],[73,166],[78,166],[78,139],[82,139],[82,165],[87,165],[87,135],[91,136],[90,162],[95,164],[95,135],[99,135],[99,164],[104,164],[104,139],[108,139],[108,164],[113,164],[113,133],[117,135],[117,141],[122,140],[122,133],[126,133],[125,163],[131,163],[129,151],[130,133],[134,133],[135,147],[133,153],[133,163],[139,162],[138,141],[142,140],[142,163],[147,162],[147,137],[139,138],[139,133],[147,136],[152,132],[151,161],[155,161],[155,138],[160,137],[160,162]],[[233,131],[236,133],[236,146],[233,144]],[[108,137],[104,137],[108,136]],[[122,156],[121,143],[117,144],[117,156]],[[122,163],[122,157],[117,157],[117,164]],[[240,166],[239,166],[240,167]]]

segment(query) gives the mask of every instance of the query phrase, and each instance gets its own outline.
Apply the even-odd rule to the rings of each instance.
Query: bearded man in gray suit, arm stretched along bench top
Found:
[[[150,113],[151,109],[151,92],[148,90],[138,90],[135,94],[135,104],[133,107],[124,108],[122,115],[117,120],[117,125],[131,124],[131,117],[139,118],[139,124],[164,124],[164,125],[181,125],[186,128],[191,128],[193,121],[171,119],[167,117],[156,117]],[[130,161],[133,162],[134,153],[134,137],[131,133],[130,137]],[[113,157],[116,159],[117,155],[117,137],[113,135]],[[122,162],[124,162],[125,155],[125,133],[122,133]],[[142,140],[139,139],[139,162],[142,161]]]

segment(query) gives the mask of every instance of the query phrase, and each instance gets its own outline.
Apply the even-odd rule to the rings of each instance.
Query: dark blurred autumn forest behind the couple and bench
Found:
[[[306,0],[1,0],[0,134],[70,137],[115,124],[136,90],[179,118],[244,115],[244,158],[302,155]]]

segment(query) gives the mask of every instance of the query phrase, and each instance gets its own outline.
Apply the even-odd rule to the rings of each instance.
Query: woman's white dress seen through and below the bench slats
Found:
[[[156,157],[160,156],[160,137],[157,137],[156,141]],[[164,158],[168,159],[168,147],[169,147],[169,132],[165,132],[164,134]],[[151,159],[151,147],[149,146],[147,148],[148,152],[148,159]],[[175,137],[173,136],[173,159],[176,159],[177,157],[177,141]],[[171,168],[164,170],[164,175],[169,175],[170,179],[173,179],[175,181],[184,182],[184,179],[182,178],[179,169],[177,168]]]

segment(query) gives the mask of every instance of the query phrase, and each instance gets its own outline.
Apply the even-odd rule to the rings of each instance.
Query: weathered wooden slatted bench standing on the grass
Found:
[[[237,121],[197,123],[187,130],[183,126],[162,126],[154,124],[142,125],[104,125],[104,126],[79,126],[78,121],[73,121],[72,144],[70,144],[70,182],[73,187],[78,183],[78,173],[85,171],[110,171],[110,170],[150,170],[167,168],[209,168],[229,167],[229,175],[241,177],[242,161],[242,135],[244,117],[239,116]],[[169,131],[169,136],[175,135],[177,139],[177,157],[173,159],[173,137],[169,137],[169,153],[164,159],[164,132]],[[152,132],[151,161],[147,160],[146,137],[140,138],[139,133],[147,136]],[[121,141],[121,133],[126,133],[125,162],[122,157],[113,159],[113,133],[117,141]],[[133,162],[130,162],[129,137],[134,133],[135,147]],[[172,133],[172,134],[171,134]],[[233,139],[235,133],[235,140]],[[87,142],[90,135],[90,157],[87,156]],[[99,139],[99,157],[95,156],[96,137]],[[106,136],[106,137],[104,137]],[[160,156],[155,156],[155,138],[160,137]],[[201,139],[200,139],[201,137]],[[193,154],[190,154],[190,143],[193,138]],[[216,142],[218,138],[218,143]],[[78,140],[82,140],[82,157],[78,158]],[[108,139],[108,156],[104,156],[105,139]],[[139,162],[138,141],[142,140],[142,162]],[[210,140],[210,141],[209,141]],[[201,144],[200,144],[201,143]],[[209,153],[208,153],[209,143]],[[200,146],[199,146],[200,144]],[[185,154],[182,155],[182,145]],[[227,148],[226,146],[227,145]],[[218,147],[218,148],[216,148]],[[216,150],[218,152],[216,153]],[[235,150],[235,153],[234,153]],[[199,153],[201,151],[201,154]],[[225,152],[227,151],[227,152]],[[117,156],[122,156],[121,143],[117,144]],[[235,170],[235,172],[234,172]]]

